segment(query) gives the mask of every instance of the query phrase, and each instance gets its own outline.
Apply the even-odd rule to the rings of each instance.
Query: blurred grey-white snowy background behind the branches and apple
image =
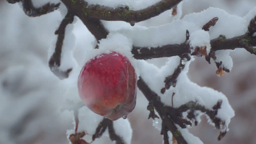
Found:
[[[182,5],[182,17],[208,7],[219,7],[230,14],[244,16],[256,6],[255,0],[188,0]],[[162,20],[162,21],[161,21]],[[59,11],[36,18],[25,15],[18,4],[0,0],[0,144],[67,144],[66,130],[73,128],[72,117],[60,114],[63,95],[74,95],[70,81],[59,80],[48,68],[48,48],[54,31],[61,21]],[[152,26],[164,23],[159,18],[141,22]],[[77,46],[74,57],[82,66],[86,48],[91,48],[94,37],[80,20],[75,23]],[[215,74],[214,64],[196,57],[189,69],[191,81],[223,92],[235,110],[230,131],[220,142],[218,131],[206,119],[190,131],[207,144],[255,144],[256,137],[256,56],[243,49],[231,53],[233,68],[222,77]],[[162,66],[166,58],[149,60]],[[135,110],[128,116],[133,128],[132,143],[161,143],[160,132],[148,118],[147,100],[140,91]],[[94,143],[113,143],[103,137]]]

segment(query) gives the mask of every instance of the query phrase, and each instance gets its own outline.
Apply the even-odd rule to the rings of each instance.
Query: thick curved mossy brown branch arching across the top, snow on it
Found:
[[[129,7],[105,7],[89,5],[83,0],[61,0],[68,9],[82,13],[85,17],[108,21],[125,21],[129,23],[141,22],[171,9],[182,0],[162,0],[142,10],[129,10]]]

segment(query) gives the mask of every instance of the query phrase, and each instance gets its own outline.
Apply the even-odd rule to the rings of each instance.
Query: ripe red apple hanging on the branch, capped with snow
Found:
[[[135,70],[128,58],[120,53],[97,55],[82,68],[78,93],[94,113],[112,121],[125,118],[136,105]]]

